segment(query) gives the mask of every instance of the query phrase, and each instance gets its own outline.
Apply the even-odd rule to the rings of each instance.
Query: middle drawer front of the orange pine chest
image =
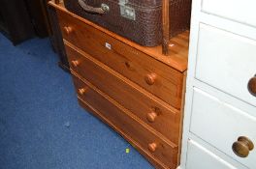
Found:
[[[92,57],[82,56],[67,45],[66,51],[70,62],[78,61],[80,63],[78,67],[71,66],[73,70],[76,70],[87,81],[132,111],[150,127],[155,128],[176,144],[178,143],[179,112],[174,112],[154,99],[145,96],[140,90],[127,84],[127,81],[115,76],[117,74],[112,74],[106,66],[90,60],[93,59]]]

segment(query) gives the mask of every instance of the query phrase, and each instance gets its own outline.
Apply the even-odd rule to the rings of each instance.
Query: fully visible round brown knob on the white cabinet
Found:
[[[249,152],[252,151],[253,148],[254,145],[252,141],[245,136],[240,136],[238,141],[236,141],[232,146],[233,152],[240,157],[248,156]]]

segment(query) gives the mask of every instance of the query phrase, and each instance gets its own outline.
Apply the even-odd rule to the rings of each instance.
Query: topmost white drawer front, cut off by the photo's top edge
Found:
[[[256,26],[255,0],[202,0],[202,11]]]

